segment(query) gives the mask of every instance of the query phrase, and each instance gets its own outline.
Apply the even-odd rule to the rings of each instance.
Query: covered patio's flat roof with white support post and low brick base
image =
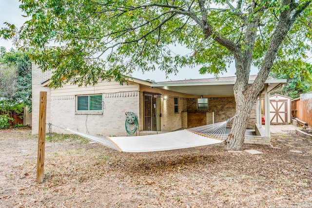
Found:
[[[249,77],[249,84],[252,84],[256,75]],[[179,81],[166,81],[152,83],[151,87],[170,90],[178,93],[194,95],[198,97],[226,97],[234,96],[234,83],[236,76],[207,78],[207,79],[190,79]],[[287,82],[286,79],[267,79],[256,101],[256,122],[254,129],[247,129],[245,132],[245,143],[270,145],[270,122],[265,122],[264,128],[261,124],[262,112],[261,99],[264,98],[265,120],[270,118],[270,94],[280,90]],[[214,119],[213,119],[214,121]],[[231,131],[227,128],[226,134]]]

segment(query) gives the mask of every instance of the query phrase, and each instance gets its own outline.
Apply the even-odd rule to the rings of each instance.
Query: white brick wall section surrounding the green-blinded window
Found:
[[[125,113],[134,112],[138,115],[138,92],[103,94],[102,96],[103,111],[100,113],[77,113],[77,96],[75,95],[52,97],[51,109],[56,112],[51,116],[52,123],[78,132],[105,136],[127,135]],[[68,133],[55,127],[53,127],[53,132]]]

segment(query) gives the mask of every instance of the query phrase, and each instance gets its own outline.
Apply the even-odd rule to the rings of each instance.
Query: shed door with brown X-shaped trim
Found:
[[[287,100],[270,100],[271,124],[287,124]]]

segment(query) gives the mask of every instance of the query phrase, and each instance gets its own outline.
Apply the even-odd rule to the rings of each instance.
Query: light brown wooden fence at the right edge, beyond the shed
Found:
[[[297,118],[312,127],[312,98],[296,101]]]

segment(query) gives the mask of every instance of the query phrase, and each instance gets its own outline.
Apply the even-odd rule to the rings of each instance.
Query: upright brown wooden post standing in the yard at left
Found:
[[[38,183],[42,183],[44,179],[44,145],[45,145],[46,111],[47,111],[47,92],[40,92],[38,162],[37,162],[37,182]]]

